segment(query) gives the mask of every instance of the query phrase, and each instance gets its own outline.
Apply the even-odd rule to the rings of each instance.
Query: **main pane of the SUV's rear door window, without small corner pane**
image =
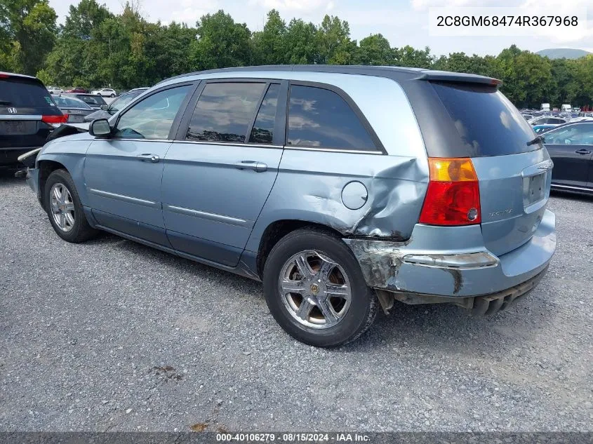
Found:
[[[244,143],[266,83],[207,83],[202,91],[186,140]]]

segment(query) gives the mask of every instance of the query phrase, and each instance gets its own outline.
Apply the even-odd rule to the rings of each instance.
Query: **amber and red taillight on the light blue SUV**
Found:
[[[420,213],[420,223],[479,224],[480,188],[472,159],[428,160],[430,182]]]

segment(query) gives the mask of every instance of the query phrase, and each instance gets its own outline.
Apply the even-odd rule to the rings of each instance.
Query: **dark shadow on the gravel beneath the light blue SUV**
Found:
[[[261,300],[264,297],[262,284],[257,281],[127,241],[119,236],[105,234],[85,245],[93,244],[145,256],[187,276],[207,275],[214,281],[224,281],[225,286],[248,297]],[[375,323],[365,335],[330,352],[359,354],[385,347],[412,347],[418,353],[465,355],[488,350],[504,354],[519,342],[529,342],[531,332],[541,331],[554,322],[554,312],[547,309],[545,304],[542,305],[542,295],[538,297],[538,291],[535,289],[509,307],[508,311],[490,317],[469,316],[464,309],[448,304],[406,305],[396,302],[389,315],[382,311],[378,313]],[[263,307],[263,310],[267,310],[265,305]],[[526,314],[525,311],[529,313]],[[260,315],[266,316],[267,311]],[[286,340],[293,339],[286,337]]]

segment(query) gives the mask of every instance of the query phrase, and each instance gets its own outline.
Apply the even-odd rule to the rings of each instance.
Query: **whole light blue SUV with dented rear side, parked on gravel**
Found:
[[[509,307],[556,248],[552,161],[483,76],[398,67],[197,72],[88,133],[27,181],[69,242],[109,231],[261,280],[276,321],[334,347],[379,307]]]

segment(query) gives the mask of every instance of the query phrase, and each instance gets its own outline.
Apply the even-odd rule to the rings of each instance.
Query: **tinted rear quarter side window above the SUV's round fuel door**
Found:
[[[357,114],[337,93],[314,86],[291,86],[287,144],[293,147],[376,151]]]

